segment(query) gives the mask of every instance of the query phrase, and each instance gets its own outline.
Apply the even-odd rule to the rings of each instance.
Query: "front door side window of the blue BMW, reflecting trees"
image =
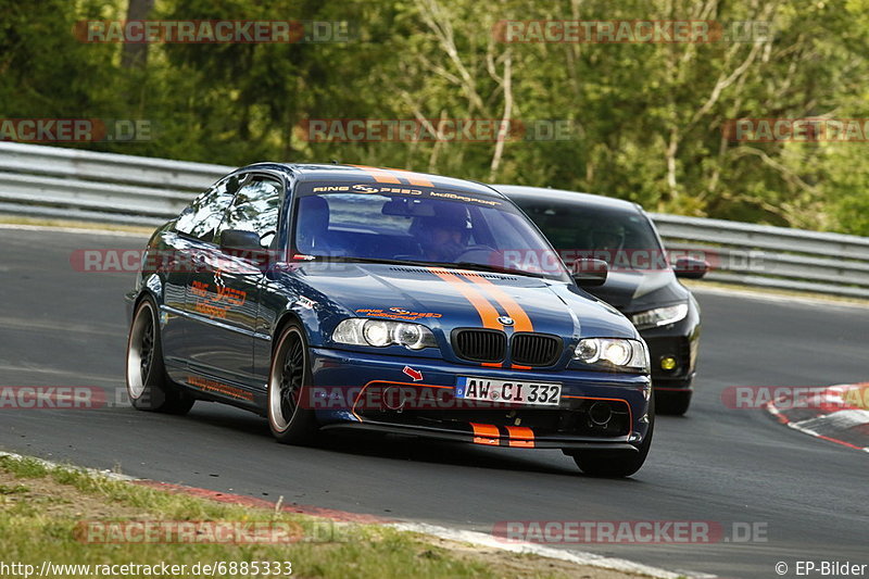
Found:
[[[253,231],[260,236],[263,247],[268,247],[277,236],[282,191],[280,182],[274,178],[252,177],[236,194],[221,231]]]

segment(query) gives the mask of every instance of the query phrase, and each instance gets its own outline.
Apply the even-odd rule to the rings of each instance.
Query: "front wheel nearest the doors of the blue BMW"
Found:
[[[268,373],[268,427],[278,442],[313,442],[318,425],[314,411],[304,403],[312,381],[304,331],[290,324],[280,332]]]

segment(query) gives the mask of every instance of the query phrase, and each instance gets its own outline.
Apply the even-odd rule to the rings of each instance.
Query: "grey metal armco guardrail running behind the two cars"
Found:
[[[232,167],[0,142],[0,213],[156,225]],[[707,278],[869,298],[869,238],[652,214],[669,250],[706,251]]]

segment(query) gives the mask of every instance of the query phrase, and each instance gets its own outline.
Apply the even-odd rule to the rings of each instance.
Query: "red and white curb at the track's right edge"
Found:
[[[785,394],[764,405],[781,424],[816,438],[869,452],[869,382]]]

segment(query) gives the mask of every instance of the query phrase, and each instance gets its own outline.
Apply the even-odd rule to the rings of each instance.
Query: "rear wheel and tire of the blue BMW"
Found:
[[[160,323],[151,298],[136,306],[129,328],[127,394],[135,408],[165,414],[187,414],[196,402],[166,375]]]

